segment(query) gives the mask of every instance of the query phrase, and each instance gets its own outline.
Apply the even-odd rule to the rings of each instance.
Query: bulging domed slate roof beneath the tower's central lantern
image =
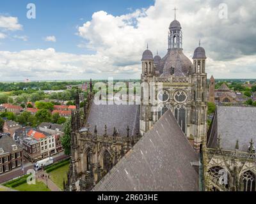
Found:
[[[163,73],[161,77],[169,77],[172,67],[175,77],[188,77],[189,69],[192,69],[193,65],[182,50],[168,50],[159,63],[159,72]]]

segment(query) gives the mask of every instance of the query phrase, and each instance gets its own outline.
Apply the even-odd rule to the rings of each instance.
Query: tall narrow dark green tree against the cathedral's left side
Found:
[[[61,144],[66,155],[70,155],[71,148],[71,118],[68,118],[64,124],[64,136],[61,138]]]

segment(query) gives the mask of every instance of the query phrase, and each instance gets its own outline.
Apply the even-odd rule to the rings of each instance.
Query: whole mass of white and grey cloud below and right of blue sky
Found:
[[[227,19],[220,18],[220,4],[227,5]],[[26,76],[31,80],[76,78],[140,78],[141,54],[148,43],[153,54],[167,52],[168,27],[174,18],[182,25],[184,53],[193,56],[198,40],[207,54],[208,77],[255,78],[256,1],[244,0],[156,0],[153,6],[111,15],[93,13],[77,27],[77,47],[95,54],[69,54],[45,50],[0,52],[0,73],[4,79]],[[56,41],[54,36],[50,41]],[[45,38],[46,40],[46,38]],[[48,39],[49,40],[49,39]]]

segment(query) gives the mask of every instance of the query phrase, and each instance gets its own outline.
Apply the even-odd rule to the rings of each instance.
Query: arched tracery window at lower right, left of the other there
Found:
[[[214,166],[208,170],[212,180],[228,188],[228,173],[220,166]]]

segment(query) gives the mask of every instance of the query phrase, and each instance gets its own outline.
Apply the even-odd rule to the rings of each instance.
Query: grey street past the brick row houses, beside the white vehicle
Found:
[[[60,155],[54,157],[53,161],[55,163],[56,161],[60,161],[61,159],[65,159],[67,157],[68,156],[66,156],[65,154],[60,154]],[[31,163],[25,164],[24,171],[22,171],[21,168],[19,167],[19,168],[16,168],[15,170],[8,172],[8,173],[4,173],[3,175],[0,175],[0,184],[6,182],[8,180],[14,179],[16,177],[19,177],[21,175],[24,175],[29,169],[31,169],[31,168],[33,169],[33,166],[34,166],[34,164],[31,164]]]

